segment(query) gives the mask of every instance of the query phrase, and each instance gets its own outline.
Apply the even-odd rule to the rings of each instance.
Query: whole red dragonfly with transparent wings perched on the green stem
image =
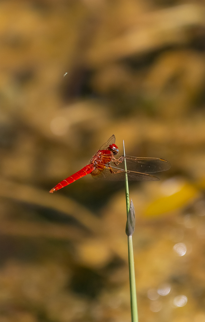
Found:
[[[91,158],[87,166],[58,183],[50,190],[50,193],[52,194],[88,174],[91,174],[93,178],[110,176],[111,180],[124,180],[124,155],[120,155],[118,152],[118,147],[115,145],[115,135],[112,135]],[[159,178],[148,173],[165,171],[171,167],[170,163],[164,159],[125,157],[128,180],[158,181]]]

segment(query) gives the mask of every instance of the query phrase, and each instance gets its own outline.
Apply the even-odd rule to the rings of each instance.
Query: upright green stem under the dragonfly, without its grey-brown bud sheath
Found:
[[[129,187],[128,187],[124,141],[123,141],[123,152],[124,152],[124,169],[125,169],[125,195],[126,195],[126,206],[127,206],[127,216],[128,216],[128,212],[130,208],[130,199],[129,199]],[[132,322],[138,322],[132,236],[128,236],[128,260],[129,260],[129,274],[130,274],[131,316],[132,316]]]

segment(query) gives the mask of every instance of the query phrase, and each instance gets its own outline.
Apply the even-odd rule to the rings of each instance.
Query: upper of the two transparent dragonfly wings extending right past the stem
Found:
[[[122,161],[123,156],[117,155],[117,159]],[[140,158],[136,156],[126,156],[126,164],[128,170],[140,173],[161,172],[166,171],[171,167],[170,163],[164,159]],[[117,167],[124,169],[124,160],[120,162]]]

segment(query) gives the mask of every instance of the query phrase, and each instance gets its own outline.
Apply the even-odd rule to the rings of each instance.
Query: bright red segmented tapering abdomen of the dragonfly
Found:
[[[87,166],[84,166],[81,170],[74,173],[74,175],[71,175],[70,177],[64,179],[60,183],[58,183],[53,189],[51,189],[49,192],[52,194],[54,191],[59,190],[66,185],[70,185],[74,181],[84,177],[85,175],[89,175],[93,170],[95,170],[95,166],[93,164],[88,164]]]

